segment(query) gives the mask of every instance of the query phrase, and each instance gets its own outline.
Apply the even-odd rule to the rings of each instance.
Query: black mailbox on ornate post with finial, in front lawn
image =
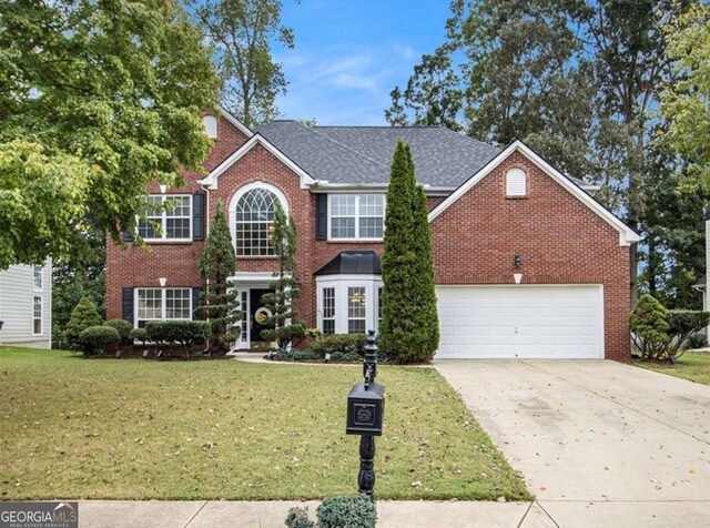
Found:
[[[345,433],[361,435],[359,473],[357,486],[361,494],[374,500],[375,436],[382,435],[385,416],[385,387],[375,383],[377,377],[377,345],[375,331],[369,331],[363,363],[364,383],[356,384],[347,397],[347,424]]]

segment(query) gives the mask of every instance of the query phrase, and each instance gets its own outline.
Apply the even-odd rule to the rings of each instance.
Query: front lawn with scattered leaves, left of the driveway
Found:
[[[359,366],[82,359],[0,347],[0,499],[317,499],[356,490]],[[383,499],[530,499],[433,368],[381,366]],[[420,483],[420,486],[413,486]]]

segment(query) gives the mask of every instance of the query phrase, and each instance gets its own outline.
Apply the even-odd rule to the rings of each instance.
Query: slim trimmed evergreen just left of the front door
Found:
[[[202,250],[200,276],[205,280],[205,291],[195,313],[210,321],[212,327],[212,351],[219,354],[230,352],[240,337],[242,311],[237,293],[229,282],[236,271],[236,256],[230,226],[217,202],[214,221]]]

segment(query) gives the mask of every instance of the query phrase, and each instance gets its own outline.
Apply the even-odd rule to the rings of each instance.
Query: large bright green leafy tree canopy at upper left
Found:
[[[149,182],[200,170],[210,58],[172,0],[0,2],[0,270],[119,242]]]

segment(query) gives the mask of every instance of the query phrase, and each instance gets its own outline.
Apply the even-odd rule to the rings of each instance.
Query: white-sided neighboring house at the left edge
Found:
[[[0,345],[51,348],[52,264],[0,272]]]

